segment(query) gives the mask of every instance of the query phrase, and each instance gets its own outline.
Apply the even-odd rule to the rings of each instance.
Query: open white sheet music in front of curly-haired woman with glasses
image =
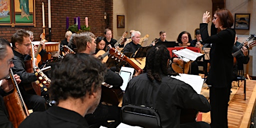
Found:
[[[183,56],[183,57],[188,58],[192,61],[194,61],[198,56],[202,55],[202,53],[197,53],[197,52],[194,52],[194,51],[189,50],[187,48],[180,49],[180,50],[177,50],[177,51],[173,51],[173,53],[176,54],[177,56]]]

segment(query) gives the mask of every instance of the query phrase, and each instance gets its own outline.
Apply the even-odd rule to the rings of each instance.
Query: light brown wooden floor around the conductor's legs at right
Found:
[[[246,79],[246,100],[244,100],[243,82],[233,82],[231,88],[230,101],[228,106],[227,120],[228,127],[249,127],[251,121],[251,115],[254,110],[254,104],[256,99],[256,80]],[[201,94],[205,97],[209,97],[209,90],[207,85],[204,85]],[[210,123],[210,112],[202,113],[202,121]]]

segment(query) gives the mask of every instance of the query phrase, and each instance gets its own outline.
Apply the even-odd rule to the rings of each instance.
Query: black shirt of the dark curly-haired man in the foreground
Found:
[[[58,107],[50,106],[46,111],[31,113],[19,128],[40,127],[40,128],[64,128],[64,127],[89,127],[87,121],[79,113]]]

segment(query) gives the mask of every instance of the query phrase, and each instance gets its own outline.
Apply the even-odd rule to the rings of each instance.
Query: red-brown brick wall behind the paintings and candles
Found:
[[[42,7],[44,2],[45,35],[48,38],[48,2],[47,0],[35,0],[35,24],[36,26],[0,26],[0,37],[10,41],[11,35],[16,30],[23,28],[34,32],[34,40],[40,40],[42,29]],[[113,0],[51,0],[51,41],[60,41],[65,38],[66,16],[69,17],[69,25],[74,23],[74,17],[80,16],[80,24],[85,24],[84,17],[88,17],[90,32],[96,36],[103,36],[105,28],[113,27]],[[104,12],[107,20],[103,19]]]

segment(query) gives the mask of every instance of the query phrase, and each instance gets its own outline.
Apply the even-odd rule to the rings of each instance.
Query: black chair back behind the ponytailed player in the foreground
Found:
[[[137,105],[124,105],[121,108],[121,121],[128,125],[146,128],[161,127],[158,112],[149,107]]]

